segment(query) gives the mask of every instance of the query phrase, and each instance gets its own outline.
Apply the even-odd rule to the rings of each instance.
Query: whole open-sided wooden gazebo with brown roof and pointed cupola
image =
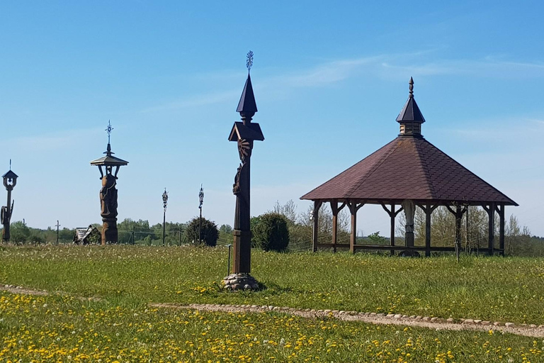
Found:
[[[504,255],[504,207],[518,204],[480,179],[421,135],[425,122],[409,82],[409,98],[397,117],[400,133],[380,150],[317,186],[300,199],[314,201],[313,250],[318,247],[349,247],[356,250],[455,251],[455,247],[431,245],[431,213],[446,206],[455,216],[455,244],[460,246],[461,218],[468,206],[481,206],[489,217],[488,245],[480,252]],[[331,243],[318,243],[319,208],[330,203],[333,216]],[[391,220],[390,245],[356,243],[357,211],[365,204],[381,205]],[[414,246],[414,211],[421,208],[426,216],[425,246]],[[337,217],[342,208],[351,212],[351,237],[348,244],[337,243]],[[404,246],[395,245],[395,217],[404,211],[407,217]],[[499,248],[494,246],[494,213],[499,214]]]

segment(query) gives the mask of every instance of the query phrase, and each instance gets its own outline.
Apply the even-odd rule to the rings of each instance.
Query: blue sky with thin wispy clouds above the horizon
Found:
[[[520,206],[544,235],[544,27],[540,1],[0,1],[0,143],[20,179],[13,220],[100,221],[98,170],[113,125],[119,218],[198,213],[232,225],[227,141],[246,78],[266,140],[252,214],[305,192],[398,133],[409,77],[427,140]],[[0,168],[1,169],[1,168]],[[387,235],[363,207],[363,234]]]

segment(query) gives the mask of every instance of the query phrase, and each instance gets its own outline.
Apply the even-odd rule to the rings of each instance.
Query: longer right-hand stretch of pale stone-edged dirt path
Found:
[[[227,313],[262,313],[262,312],[278,312],[288,313],[291,315],[301,316],[302,318],[328,318],[333,317],[339,320],[346,321],[361,321],[363,323],[371,324],[389,324],[389,325],[403,325],[403,326],[415,326],[421,328],[429,328],[434,330],[477,330],[477,331],[489,331],[511,333],[516,335],[524,335],[526,337],[544,337],[543,327],[525,327],[525,326],[504,326],[504,325],[481,325],[475,323],[448,323],[443,322],[441,319],[435,321],[422,320],[422,318],[409,318],[399,317],[399,315],[378,315],[367,313],[355,313],[344,311],[315,311],[310,309],[300,310],[293,308],[278,308],[274,306],[249,306],[249,305],[215,305],[215,304],[190,304],[179,305],[175,303],[152,303],[150,306],[157,308],[178,308],[178,309],[195,309],[201,311],[222,311]]]

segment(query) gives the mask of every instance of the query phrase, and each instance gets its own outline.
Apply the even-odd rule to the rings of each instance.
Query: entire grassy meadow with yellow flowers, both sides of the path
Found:
[[[283,313],[147,303],[232,303],[544,324],[544,259],[409,259],[254,251],[266,289],[221,291],[227,248],[0,247],[0,362],[544,362],[544,342]],[[79,297],[99,297],[83,301]]]

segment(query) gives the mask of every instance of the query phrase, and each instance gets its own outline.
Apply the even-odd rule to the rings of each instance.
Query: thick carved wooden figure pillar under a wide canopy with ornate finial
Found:
[[[102,180],[102,189],[100,189],[100,215],[102,216],[102,245],[106,243],[117,243],[117,173],[119,168],[127,165],[128,161],[119,159],[113,156],[111,151],[110,136],[111,136],[111,123],[108,121],[108,147],[104,154],[105,157],[91,161],[91,165],[96,165],[100,170],[100,179]],[[102,169],[104,167],[104,170]],[[115,172],[113,172],[115,167]]]

